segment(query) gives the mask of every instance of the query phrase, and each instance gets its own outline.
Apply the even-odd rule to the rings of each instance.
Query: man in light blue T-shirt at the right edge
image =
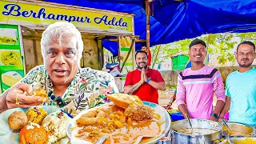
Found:
[[[226,103],[220,118],[230,110],[230,122],[256,126],[256,69],[252,66],[255,57],[253,42],[238,45],[235,58],[239,69],[226,78]]]

